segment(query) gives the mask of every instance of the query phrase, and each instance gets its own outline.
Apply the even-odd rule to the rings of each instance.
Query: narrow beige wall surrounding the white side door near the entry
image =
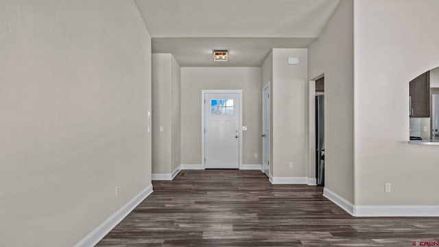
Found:
[[[263,89],[263,87],[265,85],[267,85],[269,82],[270,82],[270,95],[272,95],[272,93],[273,93],[273,87],[272,87],[272,82],[273,82],[273,51],[270,51],[270,54],[268,54],[267,58],[265,58],[265,61],[263,62],[262,66],[261,66],[261,89]],[[270,97],[270,133],[273,132],[273,118],[271,117],[271,113],[273,112],[272,101],[273,101],[273,97]],[[261,104],[262,104],[262,102],[261,102]],[[262,115],[261,115],[261,131],[262,131]],[[262,142],[261,142],[261,145],[262,145]],[[261,152],[262,152],[262,150],[261,150]],[[270,175],[271,176],[273,174],[272,159],[273,159],[273,136],[272,136],[272,134],[270,134],[270,158],[269,158],[269,161],[271,164],[270,165]],[[263,163],[263,161],[262,161],[262,156],[261,156],[261,164],[262,163]]]

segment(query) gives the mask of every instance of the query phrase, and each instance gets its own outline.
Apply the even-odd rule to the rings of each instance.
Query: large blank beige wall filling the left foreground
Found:
[[[151,185],[150,66],[133,1],[0,1],[0,246],[73,246]]]

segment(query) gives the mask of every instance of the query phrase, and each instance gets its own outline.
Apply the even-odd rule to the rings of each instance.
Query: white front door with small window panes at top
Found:
[[[204,166],[239,169],[239,93],[205,93],[204,99]]]

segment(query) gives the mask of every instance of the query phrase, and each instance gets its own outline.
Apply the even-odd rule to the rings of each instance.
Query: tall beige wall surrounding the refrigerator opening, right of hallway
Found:
[[[353,1],[340,3],[308,55],[309,78],[324,74],[325,187],[353,203]],[[368,101],[373,98],[369,96]],[[315,139],[310,141],[314,154]],[[312,158],[309,165],[314,164]]]

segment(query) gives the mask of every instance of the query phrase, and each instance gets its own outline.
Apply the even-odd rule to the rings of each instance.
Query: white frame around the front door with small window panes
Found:
[[[206,157],[204,156],[204,107],[206,106],[206,93],[238,93],[239,94],[239,169],[242,167],[242,90],[202,90],[201,91],[201,163],[206,169]]]

